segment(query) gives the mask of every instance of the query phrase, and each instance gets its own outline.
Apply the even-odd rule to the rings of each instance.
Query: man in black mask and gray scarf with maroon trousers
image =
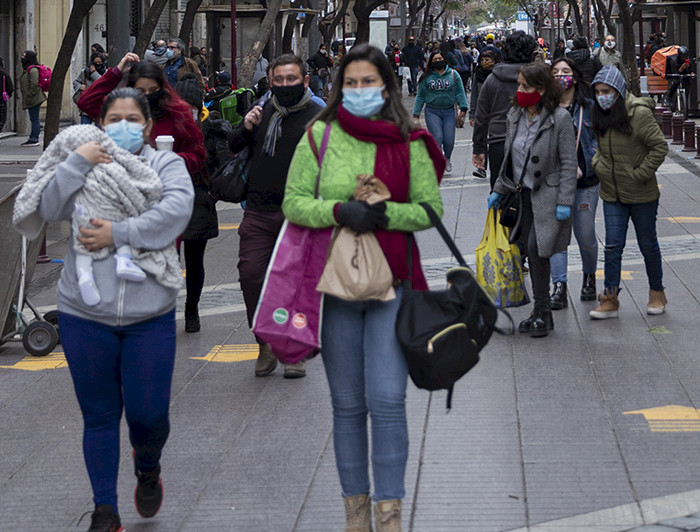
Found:
[[[232,152],[237,153],[245,146],[252,152],[246,208],[238,229],[238,272],[250,326],[284,221],[282,200],[289,164],[307,124],[321,110],[311,101],[311,92],[307,90],[309,76],[301,58],[283,54],[272,62],[269,71],[272,98],[262,107],[253,107],[229,135]],[[274,371],[277,359],[269,344],[262,341],[259,344],[255,375],[264,377]],[[285,378],[305,375],[303,361],[285,365]]]

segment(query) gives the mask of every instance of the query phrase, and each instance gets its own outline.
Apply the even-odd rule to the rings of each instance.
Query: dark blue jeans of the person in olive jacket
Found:
[[[661,250],[656,237],[656,214],[659,200],[649,203],[623,204],[603,202],[605,215],[605,288],[620,286],[622,250],[625,249],[627,226],[632,218],[637,244],[644,257],[644,265],[651,290],[663,290]]]

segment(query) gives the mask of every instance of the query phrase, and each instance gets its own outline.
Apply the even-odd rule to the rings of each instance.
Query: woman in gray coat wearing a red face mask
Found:
[[[549,257],[571,241],[571,206],[576,194],[576,150],[568,112],[559,107],[561,87],[549,66],[520,69],[518,91],[506,120],[505,157],[489,196],[497,207],[509,192],[521,197],[520,216],[510,234],[527,245],[535,308],[518,329],[547,336],[554,328],[549,298]]]

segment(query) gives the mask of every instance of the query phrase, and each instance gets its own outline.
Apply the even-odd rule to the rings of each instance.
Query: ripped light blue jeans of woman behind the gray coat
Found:
[[[595,212],[598,208],[600,183],[592,187],[577,188],[572,215],[574,236],[581,253],[583,273],[594,274],[598,267],[598,239],[595,235]],[[549,259],[552,266],[552,282],[565,283],[568,253],[555,253]]]

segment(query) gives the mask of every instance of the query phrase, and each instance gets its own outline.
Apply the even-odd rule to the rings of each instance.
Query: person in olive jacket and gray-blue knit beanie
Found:
[[[618,317],[622,251],[630,218],[649,279],[647,314],[661,314],[667,301],[656,236],[656,170],[666,158],[668,144],[654,119],[653,100],[631,94],[625,98],[625,78],[616,67],[601,68],[591,85],[598,102],[591,112],[598,139],[592,166],[600,179],[605,215],[605,291],[590,316],[599,320]]]

